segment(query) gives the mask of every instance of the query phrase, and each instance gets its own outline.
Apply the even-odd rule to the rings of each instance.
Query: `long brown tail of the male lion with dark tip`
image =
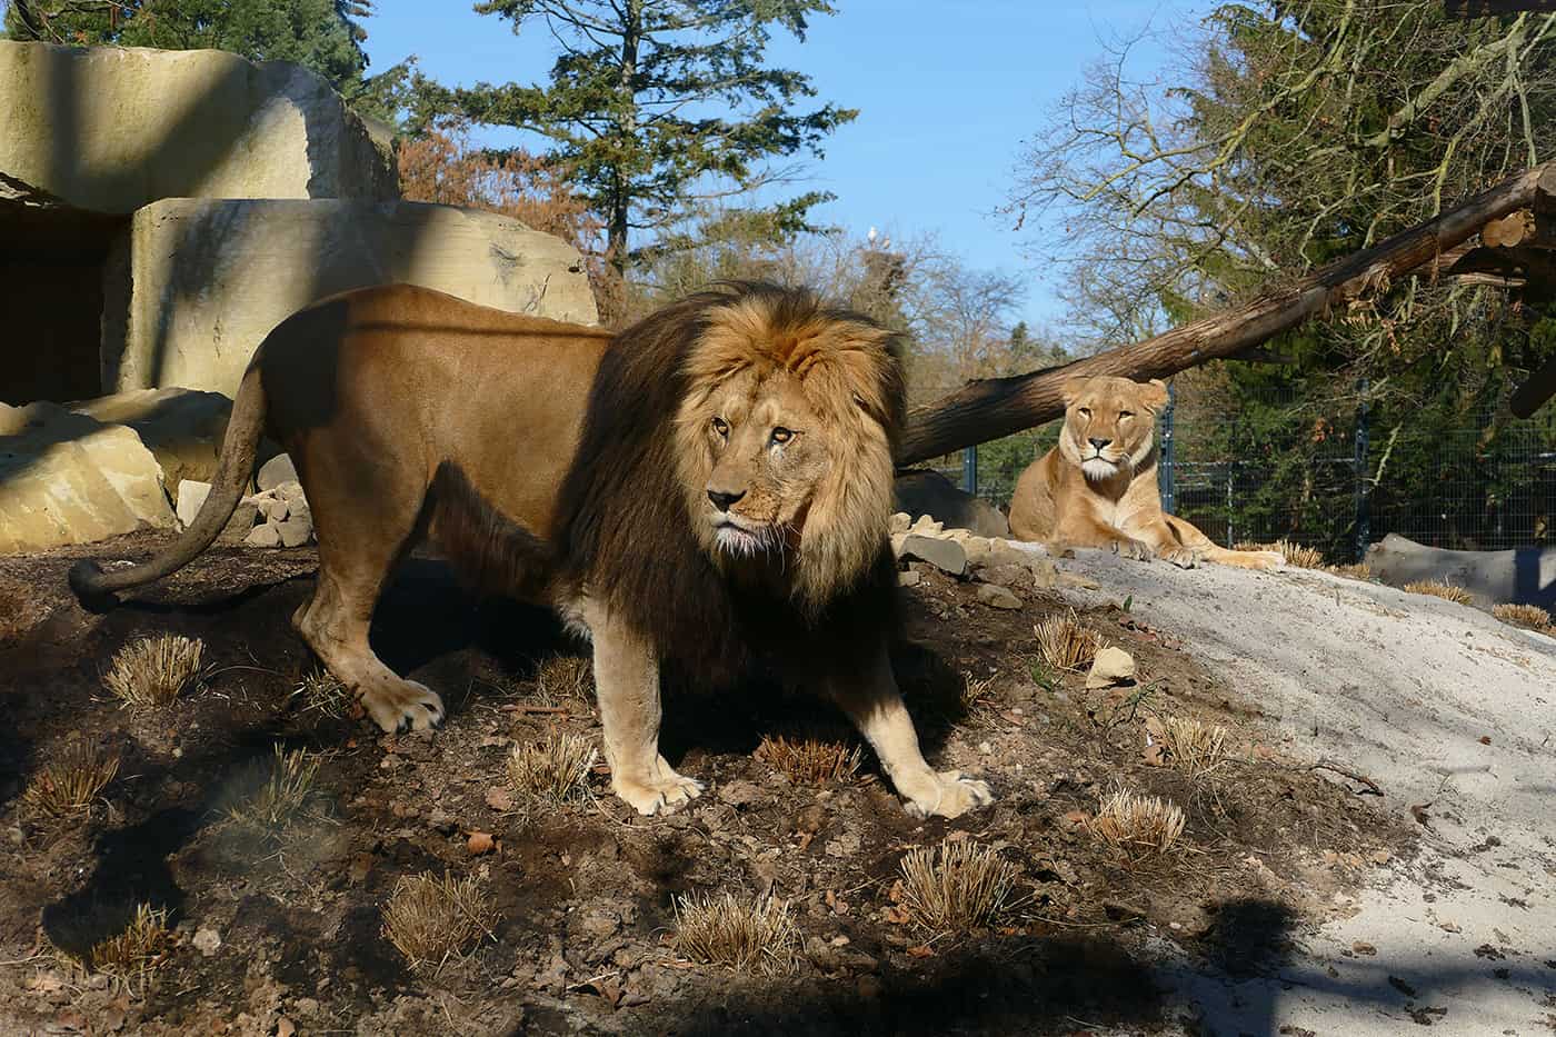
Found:
[[[263,430],[265,386],[260,385],[258,366],[251,364],[238,386],[238,397],[232,403],[216,476],[205,503],[194,515],[194,522],[171,547],[140,565],[126,565],[109,571],[92,559],[76,562],[70,568],[70,589],[76,592],[76,598],[89,604],[107,604],[112,601],[114,592],[162,579],[188,565],[196,554],[209,548],[221,536],[232,512],[237,511],[238,501],[243,500],[243,490],[247,489],[249,478],[254,475],[254,456],[258,452]]]

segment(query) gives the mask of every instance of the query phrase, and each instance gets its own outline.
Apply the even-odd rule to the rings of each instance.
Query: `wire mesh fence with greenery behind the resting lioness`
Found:
[[[1290,539],[1360,561],[1388,533],[1455,550],[1556,543],[1556,417],[1494,411],[1458,427],[1271,394],[1228,417],[1172,406],[1158,422],[1162,503],[1223,545]],[[1551,408],[1547,408],[1547,411]],[[930,467],[1008,509],[1058,422]]]

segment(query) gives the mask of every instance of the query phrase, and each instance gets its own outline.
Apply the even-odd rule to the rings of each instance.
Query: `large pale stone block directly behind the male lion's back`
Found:
[[[593,324],[579,252],[489,212],[420,202],[168,198],[140,209],[104,274],[103,386],[235,395],[280,321],[349,288],[406,282]]]

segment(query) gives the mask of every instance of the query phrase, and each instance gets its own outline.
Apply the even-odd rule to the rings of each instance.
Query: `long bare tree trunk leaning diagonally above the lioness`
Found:
[[[909,414],[898,464],[938,458],[1058,417],[1064,413],[1060,385],[1071,375],[1164,378],[1211,360],[1242,353],[1302,321],[1368,291],[1382,290],[1390,280],[1424,263],[1433,263],[1492,220],[1517,209],[1548,210],[1553,199],[1556,163],[1539,165],[1430,223],[1396,234],[1232,310],[1063,367],[969,381],[957,392]]]

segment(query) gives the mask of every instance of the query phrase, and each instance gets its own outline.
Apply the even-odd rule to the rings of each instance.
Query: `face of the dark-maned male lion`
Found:
[[[818,414],[787,372],[731,378],[708,402],[706,520],[734,557],[794,547],[831,466]]]

